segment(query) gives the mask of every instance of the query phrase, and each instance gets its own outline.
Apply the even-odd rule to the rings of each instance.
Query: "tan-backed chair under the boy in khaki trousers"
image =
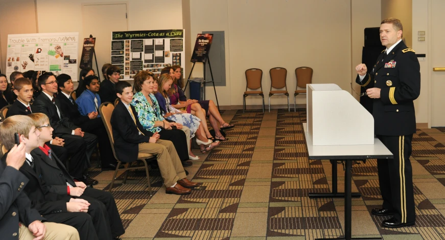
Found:
[[[116,175],[118,174],[119,170],[125,171],[124,181],[123,184],[126,183],[127,177],[128,177],[128,170],[133,169],[145,169],[146,175],[147,175],[147,183],[148,183],[148,189],[150,192],[150,195],[152,195],[151,192],[151,185],[150,185],[150,175],[148,174],[148,164],[146,159],[152,159],[154,158],[151,154],[138,154],[137,159],[135,159],[132,162],[122,162],[119,160],[119,158],[116,156],[116,152],[114,151],[114,139],[113,139],[113,129],[111,127],[111,114],[113,113],[114,105],[111,102],[104,102],[99,107],[99,113],[101,114],[102,121],[104,122],[105,129],[107,130],[108,138],[110,139],[111,149],[113,150],[114,158],[118,160],[118,166],[116,167],[116,170],[114,170],[113,179],[111,179],[110,188],[108,189],[111,192],[111,189],[113,188],[114,180],[116,179]],[[137,163],[137,161],[141,161],[144,163],[144,166],[139,167],[131,167],[133,163]],[[119,166],[124,165],[124,168],[119,169]]]

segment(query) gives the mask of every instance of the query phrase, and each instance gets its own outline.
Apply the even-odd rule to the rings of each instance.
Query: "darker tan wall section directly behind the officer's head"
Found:
[[[412,0],[381,0],[382,19],[395,17],[402,21],[403,40],[408,48],[412,47],[413,6]]]

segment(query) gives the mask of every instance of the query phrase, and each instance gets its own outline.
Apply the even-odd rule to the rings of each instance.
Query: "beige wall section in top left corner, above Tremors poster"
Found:
[[[6,72],[8,34],[36,32],[34,0],[0,0],[0,69],[2,73]]]

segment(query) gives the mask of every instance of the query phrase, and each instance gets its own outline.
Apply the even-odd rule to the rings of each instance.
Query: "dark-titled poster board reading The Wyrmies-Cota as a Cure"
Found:
[[[111,33],[111,64],[121,68],[124,80],[142,70],[159,77],[163,68],[174,65],[183,71],[184,57],[183,29]]]

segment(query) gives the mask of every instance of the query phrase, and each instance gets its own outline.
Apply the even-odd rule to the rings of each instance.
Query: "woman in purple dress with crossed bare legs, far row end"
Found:
[[[190,102],[190,99],[186,99],[184,92],[182,89],[178,86],[182,86],[182,73],[181,73],[181,67],[180,66],[173,66],[172,67],[175,78],[174,78],[174,85],[173,85],[173,93],[170,95],[170,100],[172,101],[172,105],[179,104],[177,108],[181,106],[181,104],[186,104],[187,102]],[[220,129],[229,129],[232,127],[235,127],[235,124],[228,124],[224,121],[224,119],[221,117],[221,114],[219,113],[218,107],[215,105],[215,103],[212,100],[192,100],[192,102],[197,102],[199,105],[201,105],[201,108],[205,110],[206,115],[208,116],[208,120],[210,121],[210,125],[212,125],[212,128],[215,130],[215,139],[219,141],[225,141],[227,140],[220,132]],[[202,119],[201,119],[202,120]]]

